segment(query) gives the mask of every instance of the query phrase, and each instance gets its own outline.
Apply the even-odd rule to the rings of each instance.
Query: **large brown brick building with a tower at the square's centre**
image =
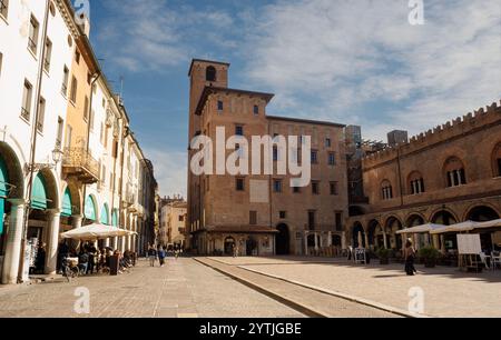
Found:
[[[253,256],[343,247],[347,217],[344,126],[267,116],[274,96],[228,88],[228,68],[224,62],[193,60],[189,139],[203,134],[216,140],[218,127],[225,128],[226,139],[311,136],[312,181],[294,189],[288,174],[195,176],[188,171],[191,248],[199,253],[230,253],[236,248],[239,254]],[[190,160],[196,152],[189,150]],[[226,150],[226,157],[233,152]],[[273,159],[278,161],[285,153],[275,150]]]

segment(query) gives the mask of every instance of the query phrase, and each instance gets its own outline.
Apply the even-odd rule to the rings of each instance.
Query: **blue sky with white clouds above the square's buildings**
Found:
[[[501,1],[90,0],[91,40],[161,194],[186,193],[191,58],[230,87],[276,93],[268,113],[416,134],[501,99]]]

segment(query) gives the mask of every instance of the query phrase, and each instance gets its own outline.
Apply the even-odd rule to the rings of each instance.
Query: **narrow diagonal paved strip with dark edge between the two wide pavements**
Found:
[[[401,311],[389,312],[376,309],[226,263],[226,261],[238,262],[238,260],[245,262],[246,259],[197,258],[196,260],[311,317],[394,318],[402,316]],[[404,313],[406,316],[405,311]]]

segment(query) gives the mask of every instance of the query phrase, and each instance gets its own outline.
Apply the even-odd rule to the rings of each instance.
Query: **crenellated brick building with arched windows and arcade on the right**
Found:
[[[369,203],[352,203],[348,242],[401,249],[399,229],[501,217],[501,107],[493,103],[362,159]],[[499,234],[494,234],[499,238]],[[454,237],[441,248],[454,248]],[[489,244],[491,234],[482,234]],[[416,240],[420,243],[420,240]],[[423,241],[423,240],[421,240]]]

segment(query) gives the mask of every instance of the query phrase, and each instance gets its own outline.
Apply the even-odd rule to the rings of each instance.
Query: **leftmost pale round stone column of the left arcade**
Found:
[[[19,259],[21,256],[22,229],[24,220],[24,200],[9,200],[9,230],[6,240],[6,257],[3,259],[2,283],[18,282]]]

